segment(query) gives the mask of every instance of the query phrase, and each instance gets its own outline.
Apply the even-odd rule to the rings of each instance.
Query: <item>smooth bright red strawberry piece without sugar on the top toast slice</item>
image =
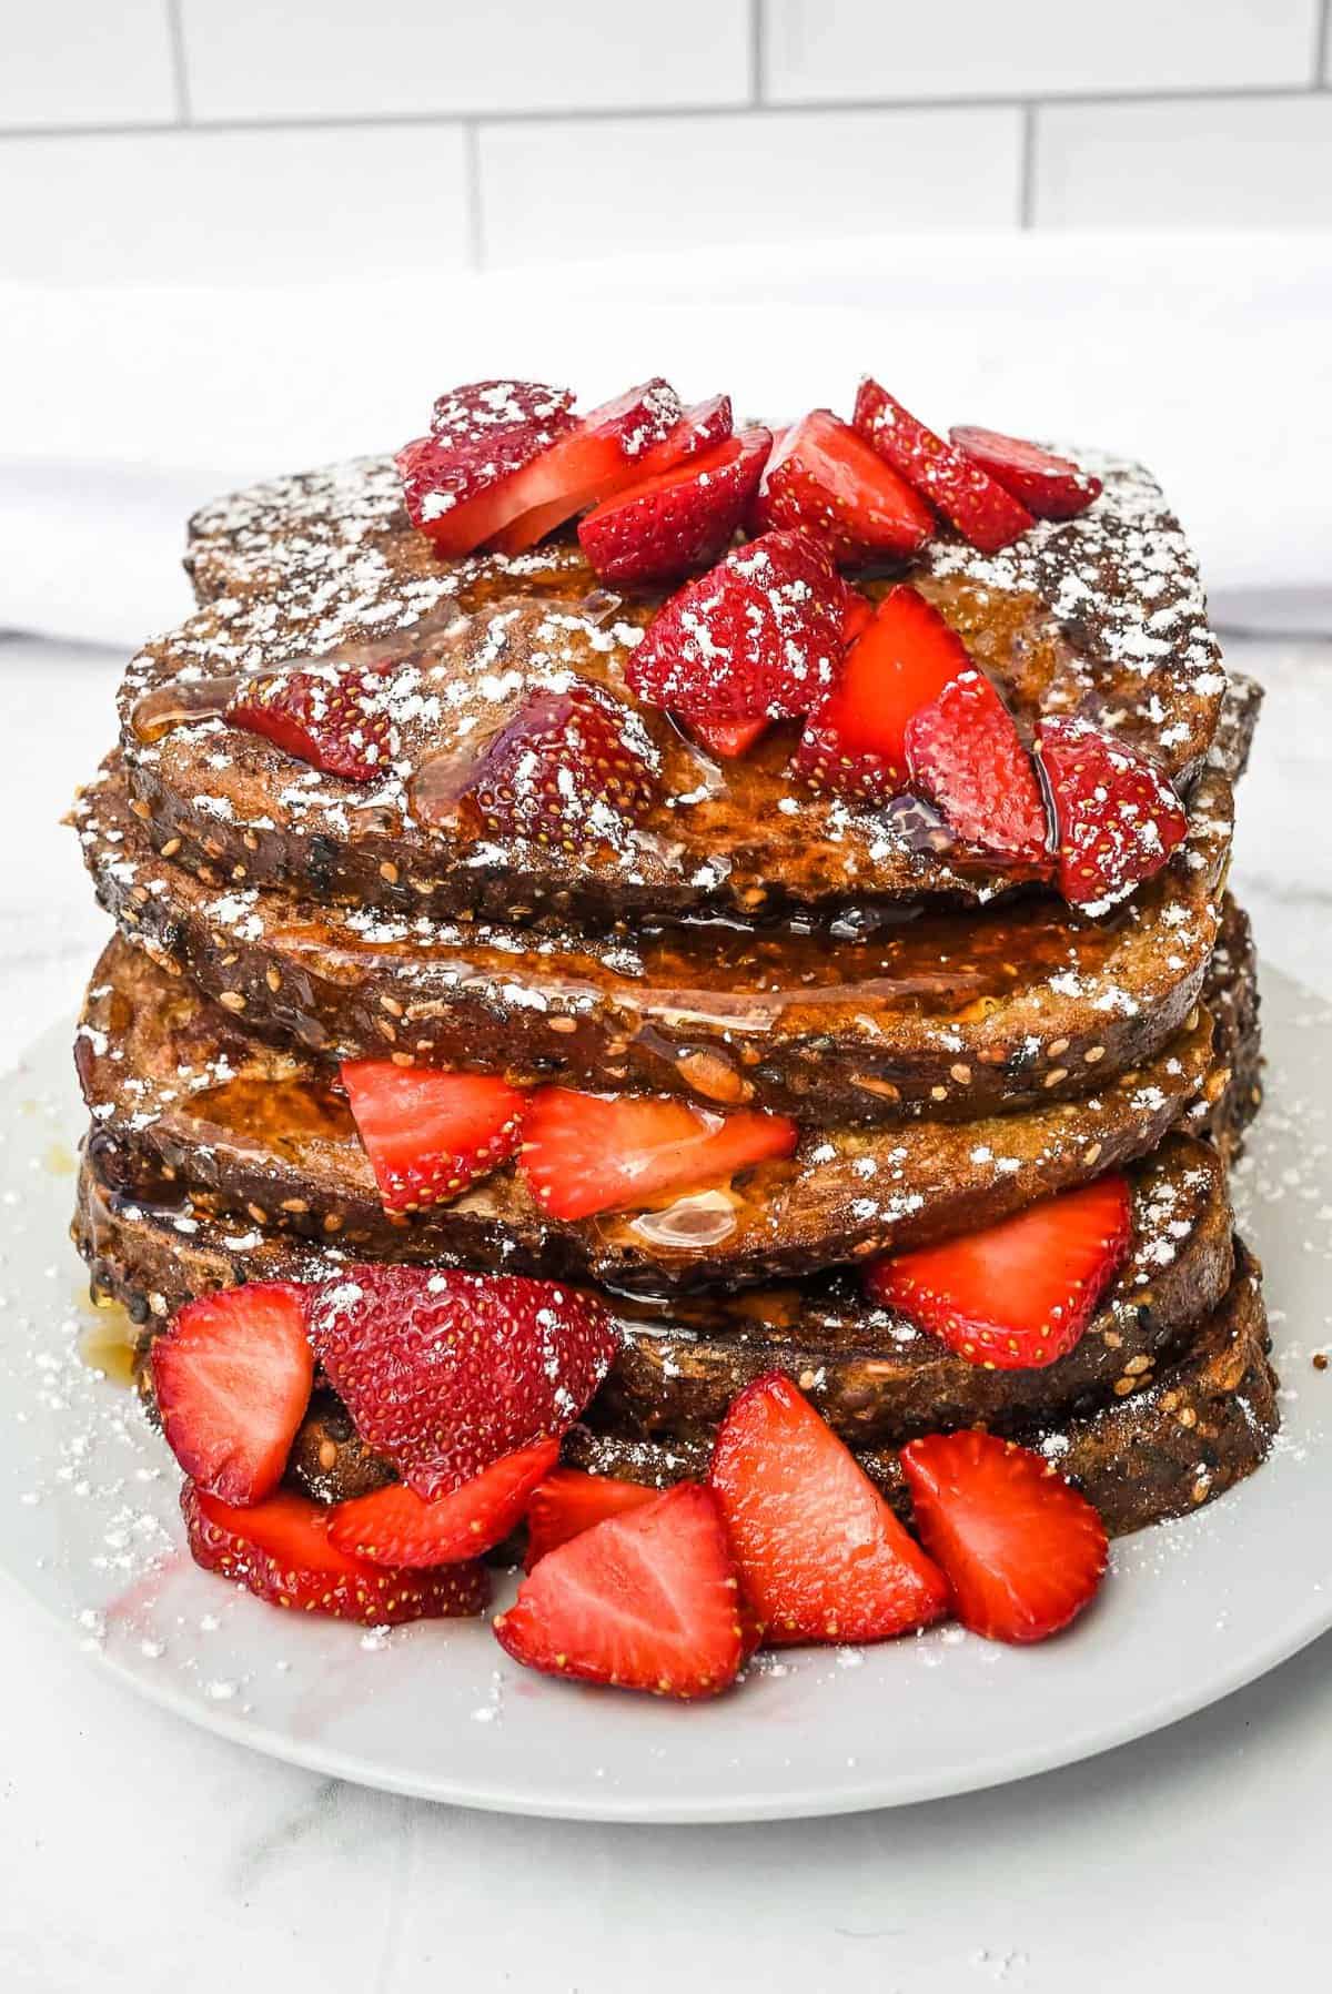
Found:
[[[806,720],[796,768],[816,790],[881,802],[907,788],[907,724],[971,660],[961,638],[905,582],[879,602],[833,688]]]

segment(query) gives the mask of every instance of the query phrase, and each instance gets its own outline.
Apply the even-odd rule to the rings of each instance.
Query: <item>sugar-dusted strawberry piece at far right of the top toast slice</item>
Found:
[[[1037,736],[1059,839],[1059,891],[1105,913],[1161,871],[1188,835],[1184,806],[1155,762],[1081,720]]]

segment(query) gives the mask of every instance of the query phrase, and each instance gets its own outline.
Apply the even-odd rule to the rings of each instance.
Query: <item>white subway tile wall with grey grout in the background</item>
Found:
[[[1332,225],[1332,0],[0,0],[0,279]]]

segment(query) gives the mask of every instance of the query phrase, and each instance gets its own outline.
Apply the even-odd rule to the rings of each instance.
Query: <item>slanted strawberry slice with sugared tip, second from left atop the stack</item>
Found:
[[[660,449],[682,419],[680,397],[660,377],[592,409],[504,485],[508,510],[493,544],[500,554],[522,554],[574,512],[636,485],[648,451]],[[690,435],[680,437],[682,453],[688,453]],[[656,471],[670,469],[664,457],[662,451]]]

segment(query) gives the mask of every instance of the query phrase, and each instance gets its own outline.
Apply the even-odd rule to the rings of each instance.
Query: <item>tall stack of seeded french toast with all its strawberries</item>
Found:
[[[1057,1631],[1262,1462],[1258,690],[1141,467],[473,383],[187,568],[74,812],[74,1234],[203,1563],[467,1613],[526,1527],[510,1653],[692,1695]]]

